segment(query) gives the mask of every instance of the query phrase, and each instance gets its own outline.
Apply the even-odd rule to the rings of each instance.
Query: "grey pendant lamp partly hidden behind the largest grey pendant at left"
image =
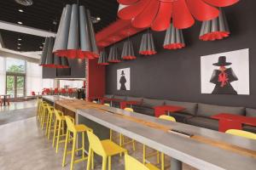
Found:
[[[59,58],[52,53],[55,38],[46,37],[44,42],[44,48],[40,59],[40,65],[49,68],[68,68],[68,60],[66,57]]]

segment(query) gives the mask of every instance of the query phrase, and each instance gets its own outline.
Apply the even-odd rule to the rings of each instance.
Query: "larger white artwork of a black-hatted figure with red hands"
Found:
[[[201,94],[249,95],[249,49],[201,56]]]

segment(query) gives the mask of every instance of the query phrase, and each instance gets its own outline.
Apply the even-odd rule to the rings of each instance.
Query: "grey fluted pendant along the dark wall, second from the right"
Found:
[[[166,37],[163,47],[166,49],[179,49],[185,47],[183,31],[175,28],[173,24],[171,24],[166,30]]]

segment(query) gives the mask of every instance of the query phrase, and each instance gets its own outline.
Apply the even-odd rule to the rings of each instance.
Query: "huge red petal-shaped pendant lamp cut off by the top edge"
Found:
[[[173,25],[177,29],[193,26],[196,20],[212,20],[218,17],[218,7],[227,7],[239,0],[118,0],[118,16],[131,20],[137,28],[150,27],[165,31]],[[195,19],[194,19],[195,18]]]

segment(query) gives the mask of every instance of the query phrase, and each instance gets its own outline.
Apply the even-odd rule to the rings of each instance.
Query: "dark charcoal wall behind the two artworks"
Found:
[[[204,102],[218,105],[243,105],[256,108],[256,2],[241,1],[224,8],[231,36],[215,42],[201,42],[198,35],[201,23],[184,30],[187,47],[180,50],[162,48],[165,32],[154,32],[158,53],[140,56],[132,61],[124,61],[107,67],[107,94],[143,96],[156,99]],[[136,50],[142,34],[131,37]],[[121,53],[123,42],[119,43]],[[250,91],[251,95],[201,94],[200,57],[208,54],[250,48]],[[131,67],[131,91],[116,89],[116,71]]]

